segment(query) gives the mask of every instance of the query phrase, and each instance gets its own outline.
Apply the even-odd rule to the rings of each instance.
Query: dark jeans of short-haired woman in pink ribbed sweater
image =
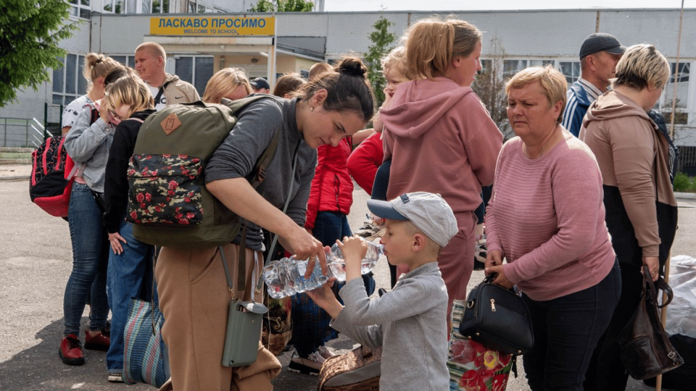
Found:
[[[615,262],[594,287],[548,301],[522,296],[534,329],[534,349],[523,356],[532,391],[583,391],[592,352],[620,295],[621,272]]]

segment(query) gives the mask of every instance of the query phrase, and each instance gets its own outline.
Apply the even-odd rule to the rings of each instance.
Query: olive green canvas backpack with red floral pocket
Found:
[[[279,98],[245,97],[224,104],[174,104],[150,115],[141,127],[128,168],[126,220],[133,236],[155,246],[204,248],[237,237],[242,219],[205,188],[205,166],[251,102]],[[280,127],[249,176],[258,187],[273,158]]]

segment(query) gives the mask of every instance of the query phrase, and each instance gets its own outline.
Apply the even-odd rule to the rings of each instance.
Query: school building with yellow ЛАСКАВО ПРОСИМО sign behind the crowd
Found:
[[[68,51],[64,67],[38,91],[19,91],[19,102],[0,109],[0,147],[31,146],[31,136],[16,133],[47,123],[56,127],[62,105],[82,95],[84,55],[101,52],[133,65],[134,49],[142,42],[159,42],[167,51],[167,72],[191,82],[203,95],[205,83],[222,67],[242,67],[248,76],[306,75],[319,61],[342,54],[365,53],[368,35],[380,17],[393,23],[389,31],[402,35],[409,24],[433,15],[424,11],[356,13],[322,12],[323,1],[310,13],[249,13],[252,0],[68,0],[70,21],[82,21],[79,31],[62,42]],[[676,102],[675,141],[682,160],[696,170],[696,9],[500,10],[438,12],[455,15],[484,31],[482,65],[501,67],[504,77],[530,65],[551,63],[569,83],[580,76],[578,51],[595,31],[615,35],[623,45],[651,43],[672,63],[674,76],[656,106],[663,113]],[[681,44],[679,44],[681,42]],[[679,57],[679,58],[677,58]],[[497,59],[498,61],[493,61]],[[677,66],[677,59],[679,65]],[[676,83],[676,99],[674,85]],[[13,118],[8,122],[8,118]],[[669,120],[669,118],[667,118]],[[10,123],[11,125],[7,125]],[[3,125],[4,124],[4,125]],[[21,133],[21,132],[20,132]],[[685,168],[686,168],[685,167]]]

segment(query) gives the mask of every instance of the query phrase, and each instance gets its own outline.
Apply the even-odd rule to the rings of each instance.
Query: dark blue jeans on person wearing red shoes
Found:
[[[90,298],[90,330],[106,328],[109,303],[106,299],[106,267],[109,263],[102,209],[86,184],[74,182],[68,206],[72,240],[72,272],[65,285],[63,316],[65,335],[80,333],[80,319]]]

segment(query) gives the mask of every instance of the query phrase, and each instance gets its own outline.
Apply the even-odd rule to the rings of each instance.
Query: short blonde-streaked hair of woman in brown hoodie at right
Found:
[[[628,47],[616,65],[613,86],[643,90],[662,88],[670,79],[670,63],[653,45],[638,44]]]

